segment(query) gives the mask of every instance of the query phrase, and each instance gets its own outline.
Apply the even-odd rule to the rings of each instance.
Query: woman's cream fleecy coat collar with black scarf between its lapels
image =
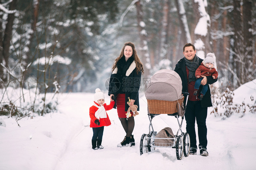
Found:
[[[112,74],[120,73],[122,75],[129,76],[132,71],[136,68],[136,63],[134,61],[133,56],[128,58],[127,61],[125,61],[125,57],[123,56],[116,64],[115,69],[113,70]]]

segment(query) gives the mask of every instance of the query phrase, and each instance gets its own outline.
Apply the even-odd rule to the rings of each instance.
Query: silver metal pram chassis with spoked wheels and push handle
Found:
[[[182,94],[187,95],[185,106],[184,106],[184,111],[186,111],[186,106],[187,106],[187,102],[188,102],[189,93],[182,92]],[[152,124],[153,117],[151,117],[150,113],[148,113],[149,122],[150,122],[149,123],[149,133],[148,134],[143,134],[141,136],[141,142],[140,142],[140,154],[141,155],[143,153],[147,153],[147,152],[155,150],[156,147],[162,147],[162,148],[165,147],[165,148],[174,148],[174,149],[176,149],[176,156],[177,156],[178,160],[182,159],[183,154],[184,154],[185,157],[187,157],[189,155],[190,137],[189,137],[189,134],[187,132],[184,133],[181,130],[182,123],[183,123],[183,120],[184,120],[184,116],[182,116],[182,120],[181,120],[181,123],[180,123],[178,113],[168,114],[168,115],[176,117],[177,121],[178,121],[178,124],[179,124],[179,129],[177,131],[177,134],[174,135],[173,138],[164,138],[164,139],[173,140],[173,144],[172,143],[155,143],[154,142],[155,139],[163,139],[163,138],[155,137],[157,135],[157,132],[154,131],[154,128],[153,128],[153,124]],[[151,128],[152,128],[152,131],[151,131]],[[156,145],[156,144],[158,144],[158,145]]]

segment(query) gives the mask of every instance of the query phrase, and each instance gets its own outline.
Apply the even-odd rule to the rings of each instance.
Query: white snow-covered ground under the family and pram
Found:
[[[247,88],[250,88],[248,89]],[[243,85],[235,91],[236,101],[253,95],[255,83]],[[252,90],[254,89],[254,90]],[[239,90],[239,91],[238,91]],[[1,116],[0,169],[1,170],[95,170],[95,169],[255,169],[256,115],[234,114],[225,120],[208,114],[208,157],[189,155],[177,160],[175,149],[156,148],[140,155],[142,134],[149,131],[147,103],[140,94],[140,111],[135,117],[135,147],[118,148],[125,136],[115,109],[107,111],[111,125],[104,127],[102,150],[91,149],[92,128],[89,127],[89,107],[94,93],[64,93],[60,95],[59,111],[46,116],[14,118]],[[105,94],[106,103],[109,97]],[[210,113],[211,108],[209,108]],[[181,118],[180,118],[181,119]],[[152,120],[154,130],[164,127],[178,130],[175,117],[159,115]],[[185,121],[182,125],[185,130]]]

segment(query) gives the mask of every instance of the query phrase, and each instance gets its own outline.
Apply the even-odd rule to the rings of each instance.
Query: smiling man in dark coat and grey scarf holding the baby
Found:
[[[212,106],[211,93],[208,85],[208,90],[202,100],[198,96],[194,96],[194,85],[196,82],[195,72],[196,69],[202,63],[202,59],[196,56],[195,46],[191,43],[187,43],[183,47],[184,58],[178,61],[175,66],[174,71],[177,72],[182,80],[182,92],[188,92],[190,95],[188,97],[187,109],[185,112],[185,120],[187,123],[186,130],[190,136],[190,152],[191,155],[196,155],[196,131],[195,131],[195,121],[198,128],[198,138],[199,138],[199,150],[200,155],[208,156],[207,152],[207,127],[206,127],[206,117],[207,117],[207,107]],[[204,77],[201,81],[201,85],[213,84],[218,80],[213,79],[212,76],[202,76]]]

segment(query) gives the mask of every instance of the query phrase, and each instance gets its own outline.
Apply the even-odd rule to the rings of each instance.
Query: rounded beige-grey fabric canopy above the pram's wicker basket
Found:
[[[176,101],[182,98],[182,81],[173,70],[157,71],[150,79],[146,99]]]

